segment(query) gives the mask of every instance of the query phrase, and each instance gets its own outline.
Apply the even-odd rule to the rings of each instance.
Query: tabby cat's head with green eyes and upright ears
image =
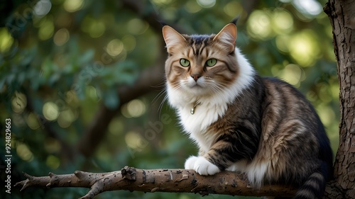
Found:
[[[217,35],[183,35],[163,26],[168,50],[167,84],[195,96],[218,95],[239,74],[236,60],[236,25],[229,23]]]

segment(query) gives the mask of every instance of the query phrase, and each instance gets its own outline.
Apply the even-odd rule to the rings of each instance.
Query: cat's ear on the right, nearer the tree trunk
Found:
[[[233,52],[236,47],[236,25],[234,25],[234,23],[228,23],[216,36],[214,36],[213,40],[221,41],[226,47],[228,47],[230,52]]]

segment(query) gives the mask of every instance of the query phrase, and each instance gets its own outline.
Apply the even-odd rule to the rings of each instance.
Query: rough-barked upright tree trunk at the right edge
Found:
[[[355,1],[329,0],[324,11],[333,27],[341,115],[334,181],[324,198],[355,198]]]

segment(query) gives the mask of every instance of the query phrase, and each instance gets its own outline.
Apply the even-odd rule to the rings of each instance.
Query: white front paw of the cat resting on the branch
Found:
[[[220,172],[219,168],[204,157],[189,157],[185,161],[185,169],[194,169],[200,175],[214,175]]]

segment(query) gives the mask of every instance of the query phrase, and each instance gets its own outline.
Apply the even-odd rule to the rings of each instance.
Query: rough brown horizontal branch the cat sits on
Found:
[[[249,186],[242,174],[223,171],[214,176],[200,176],[185,169],[135,169],[125,166],[121,171],[89,173],[75,171],[74,174],[49,176],[26,176],[25,181],[16,183],[21,191],[30,186],[39,187],[84,187],[90,188],[80,199],[94,198],[104,191],[143,191],[170,193],[200,193],[201,195],[224,194],[245,196],[292,196],[296,189],[291,186],[266,185],[259,189]]]

